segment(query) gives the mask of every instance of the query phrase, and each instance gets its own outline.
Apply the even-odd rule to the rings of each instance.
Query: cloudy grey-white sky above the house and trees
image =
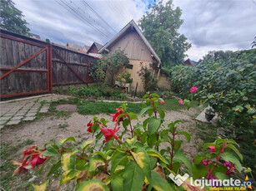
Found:
[[[90,46],[105,44],[153,0],[13,0],[41,39]],[[249,49],[256,36],[256,0],[174,0],[183,10],[180,32],[194,61],[208,51]]]

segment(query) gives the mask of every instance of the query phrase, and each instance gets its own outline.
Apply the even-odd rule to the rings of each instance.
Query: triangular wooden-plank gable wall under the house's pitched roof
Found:
[[[143,42],[143,39],[139,37],[138,32],[135,29],[129,29],[125,32],[122,37],[120,37],[112,47],[109,47],[110,52],[114,51],[124,51],[126,56],[130,60],[136,61],[148,61],[153,63],[153,58],[148,47]]]

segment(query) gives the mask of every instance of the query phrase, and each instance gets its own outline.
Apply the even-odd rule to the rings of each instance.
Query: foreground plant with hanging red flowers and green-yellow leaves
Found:
[[[18,165],[14,174],[27,172],[46,163],[46,159],[58,159],[48,173],[49,177],[54,171],[62,170],[58,189],[75,180],[75,190],[180,190],[170,182],[169,174],[227,179],[243,170],[238,144],[227,139],[204,144],[203,150],[210,149],[210,153],[198,154],[190,162],[180,149],[181,136],[188,142],[191,140],[188,132],[178,130],[178,124],[183,121],[163,125],[165,113],[158,108],[159,103],[164,104],[163,99],[157,94],[146,94],[143,101],[140,114],[148,114],[148,118],[142,124],[132,125],[138,116],[128,112],[123,104],[112,115],[114,129],[109,121],[94,117],[87,125],[94,140],[77,145],[74,137],[68,137],[57,144],[46,143],[43,148],[33,145],[23,151],[22,162],[12,161]],[[168,146],[160,150],[159,145],[163,143]],[[47,184],[48,181],[34,188],[44,190]],[[182,185],[183,189],[188,189],[187,186],[188,182]],[[189,188],[199,189],[193,185]]]

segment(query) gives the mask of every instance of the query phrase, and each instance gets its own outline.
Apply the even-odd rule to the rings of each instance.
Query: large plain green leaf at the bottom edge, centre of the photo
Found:
[[[143,188],[144,183],[143,170],[131,161],[123,171],[123,191],[138,191]]]

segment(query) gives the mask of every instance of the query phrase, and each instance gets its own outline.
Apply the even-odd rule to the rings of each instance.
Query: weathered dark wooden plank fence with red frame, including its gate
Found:
[[[1,98],[88,85],[93,56],[4,30],[0,37]]]

